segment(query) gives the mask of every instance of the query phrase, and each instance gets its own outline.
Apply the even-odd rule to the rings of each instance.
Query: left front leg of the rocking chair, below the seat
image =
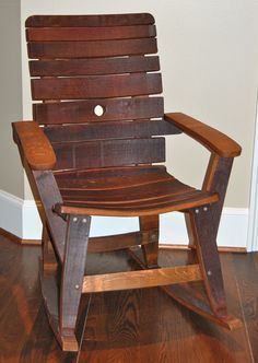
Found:
[[[59,329],[62,349],[78,350],[75,325],[82,294],[91,216],[69,215],[61,274]]]

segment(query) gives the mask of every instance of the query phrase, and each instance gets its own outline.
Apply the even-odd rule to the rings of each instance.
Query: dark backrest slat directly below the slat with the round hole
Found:
[[[136,120],[103,124],[67,125],[44,128],[51,143],[73,142],[93,139],[148,138],[152,136],[175,134],[179,131],[163,120]]]

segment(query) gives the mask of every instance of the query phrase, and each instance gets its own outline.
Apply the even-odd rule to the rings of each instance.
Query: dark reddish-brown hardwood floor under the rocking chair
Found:
[[[189,253],[166,250],[161,262],[179,264]],[[220,363],[258,362],[258,254],[221,254],[228,309],[243,319],[233,332],[188,312],[159,289],[92,296],[81,350],[63,353],[47,323],[38,283],[40,247],[0,237],[0,363]],[[121,251],[98,254],[97,270],[127,268]]]

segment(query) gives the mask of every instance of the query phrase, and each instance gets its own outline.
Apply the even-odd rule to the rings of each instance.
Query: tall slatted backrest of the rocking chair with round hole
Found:
[[[34,120],[57,169],[165,161],[156,31],[150,14],[34,15],[26,21]]]

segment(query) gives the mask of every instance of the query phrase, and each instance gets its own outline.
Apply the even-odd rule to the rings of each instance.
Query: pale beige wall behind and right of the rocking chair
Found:
[[[28,15],[40,13],[153,13],[165,110],[190,114],[242,144],[244,151],[234,165],[226,207],[248,208],[258,85],[258,1],[21,0],[21,4],[22,28]],[[30,119],[25,42],[22,50],[23,115]],[[175,175],[200,186],[208,153],[195,147],[186,137],[168,138],[167,164]],[[25,197],[31,198],[27,185]]]

